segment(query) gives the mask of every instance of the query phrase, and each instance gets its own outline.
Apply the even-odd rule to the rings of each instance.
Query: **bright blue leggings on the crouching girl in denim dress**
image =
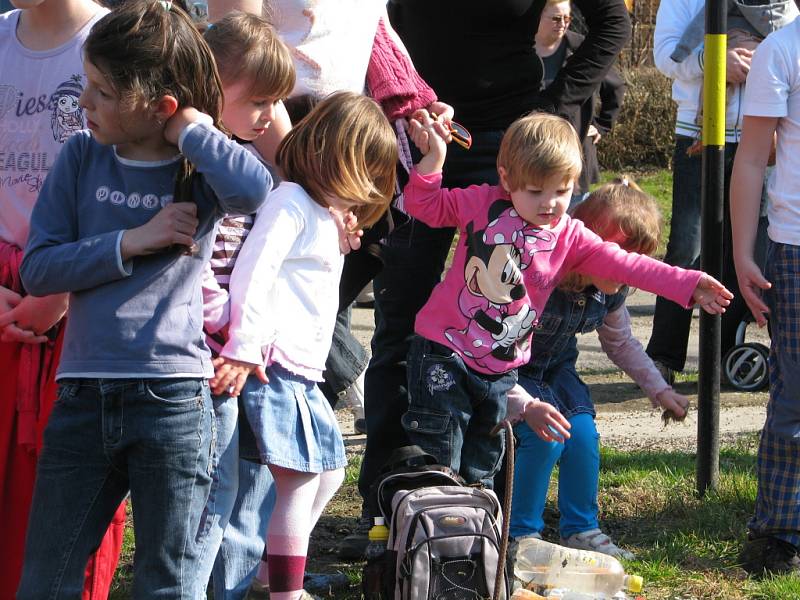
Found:
[[[558,462],[559,531],[562,538],[596,529],[600,478],[600,436],[594,418],[579,413],[569,419],[566,442],[545,442],[524,422],[514,427],[519,445],[514,465],[511,535],[541,533],[550,476]]]

